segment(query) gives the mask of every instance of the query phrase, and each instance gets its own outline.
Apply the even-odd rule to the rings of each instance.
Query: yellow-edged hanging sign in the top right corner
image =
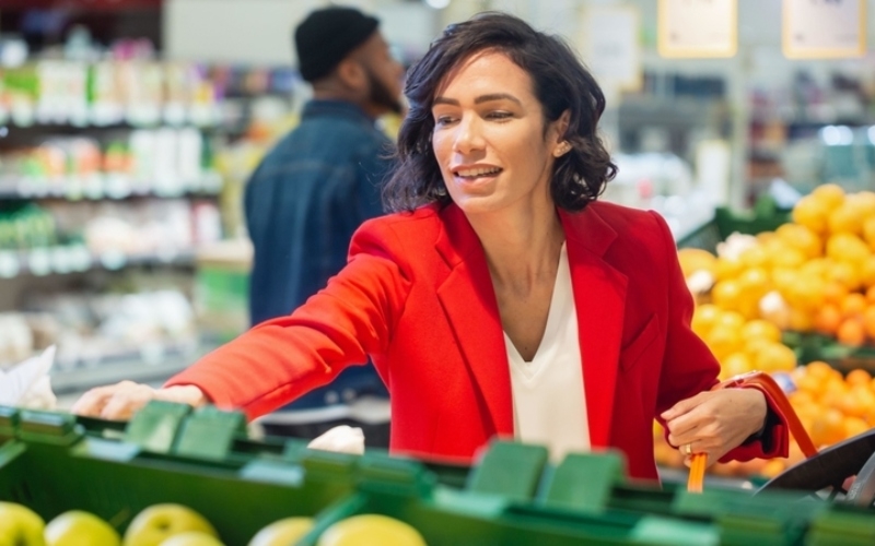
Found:
[[[862,57],[866,52],[863,0],[784,0],[783,50],[791,59]]]

